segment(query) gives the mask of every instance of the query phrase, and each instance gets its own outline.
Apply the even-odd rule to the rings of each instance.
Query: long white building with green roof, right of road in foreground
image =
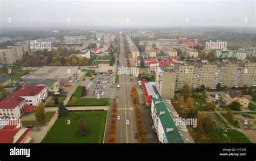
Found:
[[[161,97],[152,98],[151,116],[161,143],[184,143],[176,123]]]

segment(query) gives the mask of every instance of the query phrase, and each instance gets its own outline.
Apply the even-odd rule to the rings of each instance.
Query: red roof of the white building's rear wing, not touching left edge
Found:
[[[14,95],[16,96],[35,96],[40,93],[46,86],[25,86],[19,89]]]

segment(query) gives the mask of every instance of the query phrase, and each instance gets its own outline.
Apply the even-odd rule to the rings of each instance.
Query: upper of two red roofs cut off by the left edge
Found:
[[[0,109],[14,109],[24,100],[25,99],[23,99],[22,97],[8,96],[6,97],[6,99],[0,102]]]

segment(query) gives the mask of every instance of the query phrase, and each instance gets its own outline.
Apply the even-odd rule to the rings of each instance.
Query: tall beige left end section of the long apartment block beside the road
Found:
[[[176,72],[171,66],[156,66],[156,88],[161,97],[173,99],[176,84]]]

